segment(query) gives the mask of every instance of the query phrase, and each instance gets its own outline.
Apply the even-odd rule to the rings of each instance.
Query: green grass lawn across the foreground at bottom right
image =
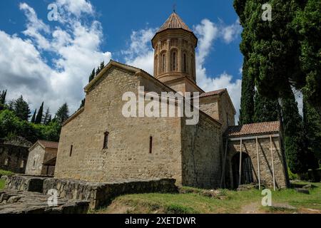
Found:
[[[307,183],[305,183],[307,184]],[[321,213],[321,183],[314,183],[310,195],[294,189],[272,191],[272,205],[263,207],[260,190],[235,192],[222,190],[220,199],[205,197],[196,191],[187,194],[123,195],[113,200],[109,207],[93,213]],[[280,206],[282,205],[282,206]],[[295,207],[291,209],[288,207]]]

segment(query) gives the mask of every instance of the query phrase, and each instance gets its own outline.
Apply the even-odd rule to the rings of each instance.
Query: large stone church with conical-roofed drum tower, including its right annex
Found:
[[[153,76],[110,61],[85,88],[86,103],[63,123],[55,177],[113,182],[175,178],[203,188],[259,184],[286,187],[279,125],[235,125],[228,90],[205,93],[196,83],[198,38],[173,12],[151,41]],[[199,92],[199,121],[125,118],[124,93]],[[137,94],[138,95],[138,94]],[[254,140],[254,141],[253,141]],[[273,157],[274,154],[274,157]]]

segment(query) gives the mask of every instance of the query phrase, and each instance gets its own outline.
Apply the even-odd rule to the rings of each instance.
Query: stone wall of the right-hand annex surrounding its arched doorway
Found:
[[[269,137],[269,135],[267,135]],[[270,138],[258,139],[258,150],[260,155],[260,180],[261,184],[265,187],[273,187],[272,178],[272,157],[270,152]],[[255,139],[243,140],[243,152],[246,152],[253,163],[253,178],[255,182],[258,182],[258,156],[256,150]],[[285,169],[285,157],[280,150],[279,138],[272,138],[273,158],[274,158],[274,170],[275,170],[275,182],[276,187],[287,187],[287,174]],[[230,182],[230,186],[233,187],[233,171],[232,171],[232,158],[240,152],[240,141],[230,141],[228,144],[228,163],[227,163],[227,180]]]

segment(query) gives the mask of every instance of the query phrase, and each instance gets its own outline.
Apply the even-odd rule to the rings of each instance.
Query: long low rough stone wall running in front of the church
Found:
[[[114,197],[126,194],[150,192],[178,192],[175,179],[125,180],[122,182],[85,182],[44,177],[15,175],[6,178],[6,188],[29,192],[57,190],[58,197],[90,201],[91,209],[98,209],[111,203]]]

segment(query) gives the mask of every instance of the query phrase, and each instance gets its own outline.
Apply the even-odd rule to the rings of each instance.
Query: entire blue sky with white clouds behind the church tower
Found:
[[[51,3],[58,21],[47,19]],[[238,110],[243,56],[232,0],[0,1],[0,90],[8,89],[9,99],[22,93],[31,109],[44,100],[52,113],[63,102],[73,112],[100,61],[112,58],[152,73],[150,39],[173,4],[199,38],[198,84],[228,88]]]

